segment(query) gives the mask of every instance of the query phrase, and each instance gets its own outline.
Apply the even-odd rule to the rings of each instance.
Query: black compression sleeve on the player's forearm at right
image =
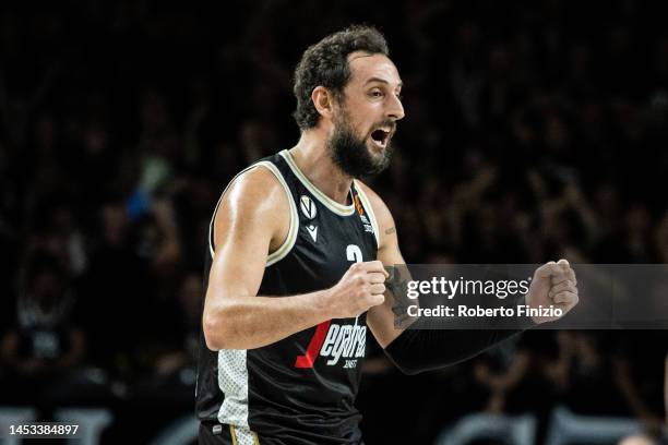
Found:
[[[405,374],[417,374],[470,359],[536,324],[530,318],[514,328],[443,329],[418,318],[386,348],[385,354]]]

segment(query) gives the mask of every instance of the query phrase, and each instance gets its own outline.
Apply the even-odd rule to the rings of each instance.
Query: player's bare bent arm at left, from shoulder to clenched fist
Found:
[[[223,196],[202,320],[210,349],[260,348],[330,318],[357,316],[382,301],[380,262],[353,265],[331,289],[258,296],[267,253],[286,239],[289,215],[284,189],[263,167],[243,173]]]

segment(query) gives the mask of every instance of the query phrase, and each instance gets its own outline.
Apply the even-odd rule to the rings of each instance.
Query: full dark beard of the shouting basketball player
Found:
[[[353,178],[369,178],[383,171],[392,159],[392,146],[390,141],[382,154],[373,155],[365,139],[360,139],[348,116],[342,111],[342,117],[335,121],[334,133],[326,143],[327,152],[334,164],[341,170]],[[381,122],[394,127],[394,122]]]

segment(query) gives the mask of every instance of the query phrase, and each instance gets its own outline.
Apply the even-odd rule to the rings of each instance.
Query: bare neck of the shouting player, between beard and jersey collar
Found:
[[[297,145],[290,148],[290,155],[313,185],[337,203],[348,205],[353,178],[332,161],[325,141],[326,133],[321,129],[305,131]]]

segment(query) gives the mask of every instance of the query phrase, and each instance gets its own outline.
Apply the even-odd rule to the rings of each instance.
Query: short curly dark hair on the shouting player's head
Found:
[[[355,51],[390,56],[385,37],[367,25],[353,25],[331,34],[303,52],[295,69],[293,88],[297,98],[293,117],[300,130],[318,125],[320,113],[311,101],[311,93],[317,86],[330,89],[336,100],[343,98],[343,91],[351,74],[348,55]]]

